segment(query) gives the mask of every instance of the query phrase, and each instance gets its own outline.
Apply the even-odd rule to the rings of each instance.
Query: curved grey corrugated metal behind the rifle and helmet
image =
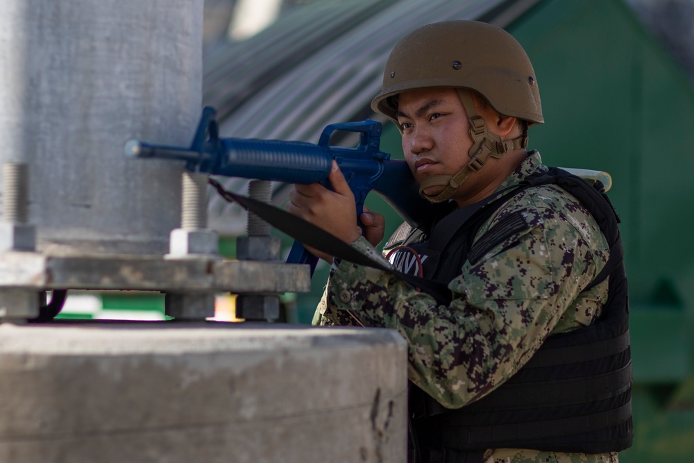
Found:
[[[380,90],[391,49],[409,31],[447,19],[487,18],[505,26],[533,3],[536,0],[326,3],[206,59],[203,99],[220,110],[225,137],[316,143],[327,124],[379,119],[371,111],[371,99]],[[236,191],[247,183],[232,178],[223,182]],[[242,215],[211,197],[212,227],[242,233]]]

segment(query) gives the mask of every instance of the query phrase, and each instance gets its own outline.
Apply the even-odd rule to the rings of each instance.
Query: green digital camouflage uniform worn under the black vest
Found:
[[[539,169],[545,167],[534,152],[497,191]],[[607,280],[582,292],[609,256],[589,212],[559,187],[534,187],[510,199],[477,237],[518,211],[527,229],[476,264],[465,262],[448,285],[450,305],[437,305],[390,273],[336,262],[314,324],[398,330],[408,341],[408,375],[415,385],[450,408],[481,398],[521,369],[545,337],[593,323],[607,300]],[[385,262],[363,237],[353,246]],[[514,449],[489,450],[485,458],[489,463],[617,462],[616,453]]]

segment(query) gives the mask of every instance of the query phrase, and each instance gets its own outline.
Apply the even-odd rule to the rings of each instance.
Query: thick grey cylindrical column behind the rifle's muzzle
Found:
[[[0,1],[0,164],[26,162],[39,251],[167,253],[201,111],[203,0]]]

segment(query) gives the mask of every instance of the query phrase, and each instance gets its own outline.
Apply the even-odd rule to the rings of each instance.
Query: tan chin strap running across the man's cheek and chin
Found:
[[[525,149],[525,147],[527,147],[527,134],[523,134],[512,140],[504,141],[501,140],[499,135],[492,133],[489,127],[484,123],[482,116],[477,114],[471,91],[464,88],[457,89],[457,91],[460,101],[463,103],[463,108],[465,108],[465,112],[468,115],[468,120],[470,121],[470,137],[473,140],[473,145],[470,147],[470,151],[468,151],[470,162],[464,165],[463,168],[453,176],[437,175],[422,180],[419,184],[419,194],[432,203],[441,203],[442,201],[450,199],[468,176],[482,169],[482,166],[486,164],[490,157],[498,159],[507,153],[507,151],[514,151],[521,148]],[[424,192],[424,190],[430,187],[443,185],[446,187],[439,194],[430,195]]]

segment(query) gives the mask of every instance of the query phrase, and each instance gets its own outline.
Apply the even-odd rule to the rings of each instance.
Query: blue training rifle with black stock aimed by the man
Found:
[[[359,144],[355,148],[332,146],[330,137],[336,131],[359,133]],[[391,160],[389,153],[380,151],[381,133],[380,122],[366,120],[330,124],[323,129],[318,144],[220,138],[217,111],[207,106],[203,108],[191,146],[131,140],[125,151],[133,158],[183,160],[186,169],[198,173],[305,185],[319,182],[325,187],[330,187],[328,174],[334,159],[355,196],[357,220],[364,210],[366,196],[374,191],[412,226],[428,223],[432,204],[419,196],[418,184],[407,163]],[[313,273],[318,258],[306,251],[303,244],[294,242],[287,262],[310,264]]]

